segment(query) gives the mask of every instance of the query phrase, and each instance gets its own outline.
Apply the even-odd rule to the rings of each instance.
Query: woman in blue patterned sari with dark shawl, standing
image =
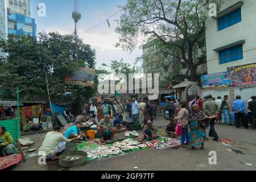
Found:
[[[192,146],[192,150],[195,150],[195,146],[201,144],[201,150],[204,150],[205,142],[205,129],[208,127],[208,117],[199,110],[199,105],[194,104],[189,111],[188,121],[190,125],[189,139]]]

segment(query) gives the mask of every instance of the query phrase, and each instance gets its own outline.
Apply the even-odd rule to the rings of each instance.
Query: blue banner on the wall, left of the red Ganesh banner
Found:
[[[201,77],[203,88],[228,88],[232,86],[230,72],[214,73],[210,75],[203,75]]]

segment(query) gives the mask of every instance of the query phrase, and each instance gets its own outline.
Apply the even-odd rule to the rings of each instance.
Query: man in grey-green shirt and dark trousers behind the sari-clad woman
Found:
[[[214,123],[219,110],[218,105],[212,100],[212,95],[209,94],[207,100],[203,104],[203,111],[208,117],[215,116],[215,118],[210,119],[209,136],[213,137],[213,140],[216,142],[218,141],[218,134],[214,129]]]

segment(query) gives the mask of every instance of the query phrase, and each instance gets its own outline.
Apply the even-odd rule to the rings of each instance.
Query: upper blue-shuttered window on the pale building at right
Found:
[[[218,30],[219,31],[223,30],[241,21],[242,21],[242,17],[241,17],[241,7],[240,7],[232,11],[231,13],[222,16],[221,18],[218,18]]]

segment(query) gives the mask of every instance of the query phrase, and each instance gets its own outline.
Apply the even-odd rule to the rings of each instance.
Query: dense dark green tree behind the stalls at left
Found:
[[[57,32],[40,33],[38,40],[31,36],[10,35],[0,41],[0,48],[8,52],[7,61],[1,63],[0,88],[5,90],[5,98],[13,98],[16,86],[23,100],[32,100],[46,94],[46,73],[48,75],[51,98],[63,98],[71,92],[69,99],[79,102],[88,100],[97,92],[97,76],[104,70],[96,71],[94,88],[65,84],[64,75],[72,76],[78,67],[94,68],[96,52],[88,44],[78,41],[79,65],[76,63],[75,37]],[[4,68],[4,69],[3,69]]]

